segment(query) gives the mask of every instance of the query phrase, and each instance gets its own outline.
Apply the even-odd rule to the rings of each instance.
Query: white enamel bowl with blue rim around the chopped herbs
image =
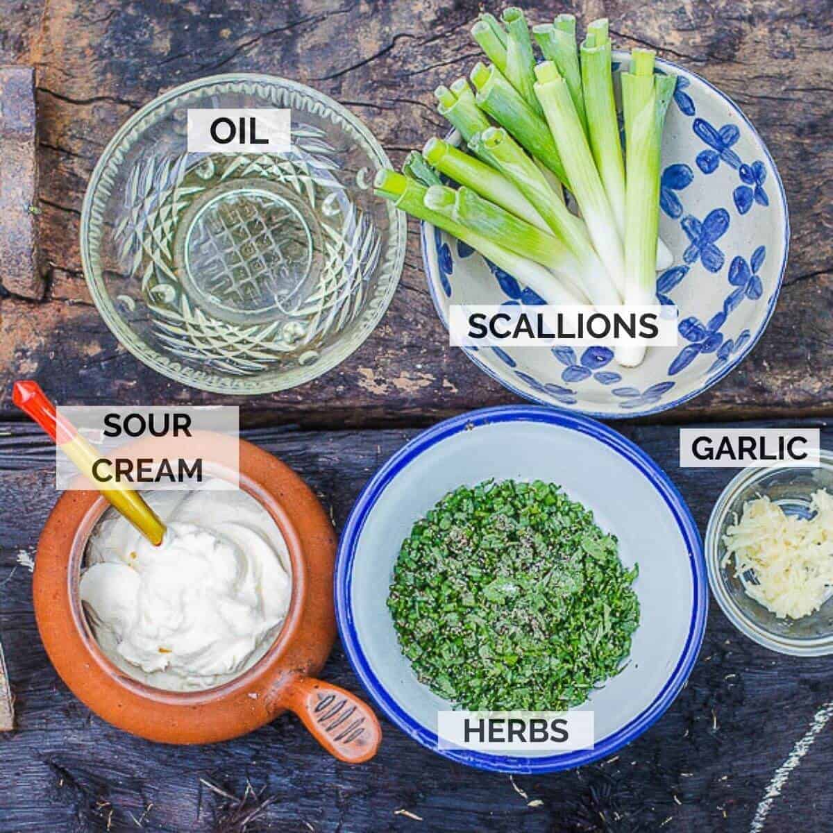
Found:
[[[591,750],[501,756],[437,748],[436,713],[452,708],[402,656],[388,588],[402,541],[448,491],[495,478],[560,484],[639,564],[640,624],[625,669],[594,691]],[[706,629],[706,564],[680,493],[644,451],[600,422],[535,406],[489,408],[423,431],[367,484],[342,533],[336,616],[353,669],[380,711],[407,735],[469,766],[501,772],[563,770],[613,755],[651,726],[686,681]]]

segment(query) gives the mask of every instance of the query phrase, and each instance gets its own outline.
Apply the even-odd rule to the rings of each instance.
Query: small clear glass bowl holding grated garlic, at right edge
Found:
[[[721,565],[726,555],[723,536],[741,517],[746,501],[767,496],[787,513],[809,518],[811,496],[818,489],[833,492],[833,453],[821,451],[820,465],[813,468],[744,469],[718,498],[706,529],[706,566],[717,603],[731,623],[759,645],[792,656],[824,656],[833,653],[833,601],[828,600],[810,616],[778,619],[766,607],[746,595],[735,576],[734,559]],[[833,588],[831,588],[833,594]]]

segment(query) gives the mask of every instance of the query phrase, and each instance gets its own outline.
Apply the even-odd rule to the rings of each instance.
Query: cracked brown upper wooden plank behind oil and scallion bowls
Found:
[[[531,17],[606,13],[623,46],[656,46],[744,108],[784,179],[793,240],[786,287],[751,357],[674,419],[823,413],[833,407],[833,96],[829,0],[538,2]],[[39,71],[42,254],[47,297],[0,300],[0,412],[7,381],[37,376],[59,402],[211,401],[117,345],[81,276],[87,179],[117,127],[164,89],[213,72],[272,72],[336,97],[394,162],[445,126],[431,91],[471,67],[475,0],[2,0],[10,52]],[[497,7],[496,7],[497,8]],[[0,31],[2,35],[2,31]],[[2,47],[2,38],[0,38]],[[18,59],[20,59],[18,57]],[[294,391],[247,402],[249,419],[310,426],[431,421],[514,397],[446,346],[412,224],[402,282],[380,327],[347,362]],[[666,417],[670,419],[671,417]]]

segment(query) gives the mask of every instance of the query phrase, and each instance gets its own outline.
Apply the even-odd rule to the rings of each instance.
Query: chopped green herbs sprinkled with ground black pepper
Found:
[[[387,606],[416,676],[446,700],[559,710],[624,666],[637,572],[559,486],[486,481],[416,522]]]

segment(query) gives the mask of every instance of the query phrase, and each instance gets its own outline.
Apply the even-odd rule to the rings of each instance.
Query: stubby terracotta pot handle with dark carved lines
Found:
[[[382,727],[370,706],[357,696],[307,676],[295,677],[281,694],[282,706],[294,711],[339,761],[361,764],[376,755]]]

